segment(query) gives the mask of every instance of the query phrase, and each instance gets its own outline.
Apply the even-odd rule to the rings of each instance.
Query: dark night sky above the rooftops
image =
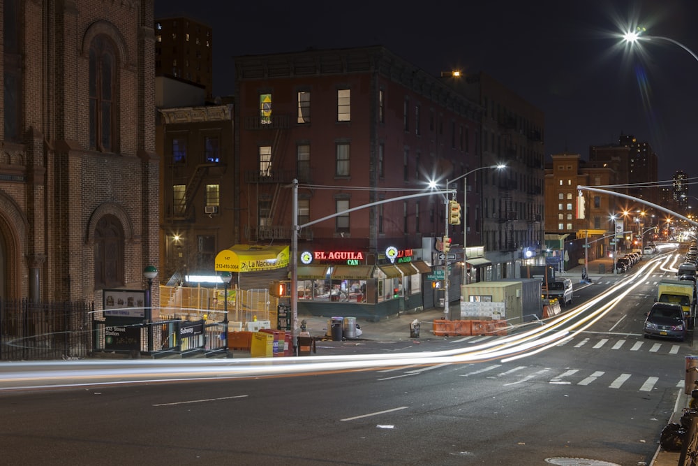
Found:
[[[697,0],[424,2],[156,0],[214,31],[214,96],[235,92],[232,57],[384,45],[438,76],[483,71],[545,113],[547,154],[588,157],[632,134],[659,156],[660,180],[698,177]],[[344,8],[344,10],[343,10]],[[620,31],[646,28],[644,55]],[[634,28],[633,28],[634,29]],[[698,188],[692,189],[698,196]]]

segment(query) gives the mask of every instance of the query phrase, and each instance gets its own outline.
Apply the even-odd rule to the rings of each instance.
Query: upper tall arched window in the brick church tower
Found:
[[[106,36],[96,36],[89,48],[89,146],[117,152],[117,54]]]

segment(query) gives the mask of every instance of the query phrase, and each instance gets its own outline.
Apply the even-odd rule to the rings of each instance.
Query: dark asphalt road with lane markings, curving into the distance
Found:
[[[666,272],[576,287],[575,307],[619,281],[591,309],[621,298],[544,351],[519,348],[477,363],[4,392],[1,458],[44,465],[649,464],[691,353],[688,342],[641,336],[660,275]],[[451,337],[428,348],[473,352],[497,338],[504,337]]]

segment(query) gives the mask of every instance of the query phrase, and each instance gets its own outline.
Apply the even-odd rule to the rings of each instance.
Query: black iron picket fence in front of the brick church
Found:
[[[92,312],[92,303],[0,300],[0,360],[87,357]]]

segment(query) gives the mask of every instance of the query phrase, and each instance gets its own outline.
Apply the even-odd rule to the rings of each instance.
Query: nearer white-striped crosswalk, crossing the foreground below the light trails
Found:
[[[386,381],[399,379],[401,377],[410,377],[417,374],[422,374],[428,370],[438,369],[450,364],[440,364],[428,367],[419,367],[410,365],[405,367],[391,367],[385,370],[379,370],[378,373],[386,374],[381,376],[378,381]],[[417,368],[413,368],[417,367]],[[637,390],[640,392],[651,392],[655,390],[659,383],[659,377],[636,376],[627,372],[612,373],[606,370],[581,370],[565,368],[562,372],[557,372],[552,367],[529,367],[526,365],[509,366],[504,364],[490,365],[454,365],[456,371],[460,371],[464,367],[466,372],[458,374],[459,377],[475,377],[484,376],[487,379],[501,380],[502,386],[516,386],[525,384],[526,382],[538,381],[551,385],[561,386],[591,386],[593,384],[602,384],[611,390]],[[399,372],[398,374],[395,374]],[[392,373],[392,374],[390,374]],[[390,374],[390,375],[387,375]],[[683,388],[684,380],[680,379],[674,383],[677,388]]]

